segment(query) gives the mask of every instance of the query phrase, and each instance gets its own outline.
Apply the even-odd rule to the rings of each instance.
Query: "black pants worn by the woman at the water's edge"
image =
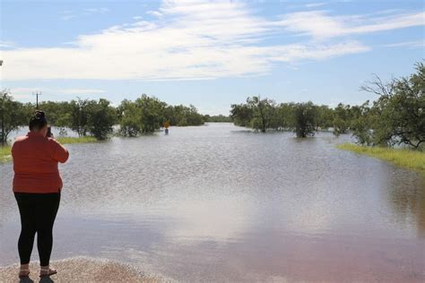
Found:
[[[21,214],[21,235],[18,241],[21,264],[30,262],[32,245],[37,232],[37,247],[41,266],[48,265],[53,246],[53,224],[59,208],[57,193],[14,193]]]

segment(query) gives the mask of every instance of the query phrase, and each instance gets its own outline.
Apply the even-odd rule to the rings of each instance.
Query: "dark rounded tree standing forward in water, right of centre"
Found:
[[[317,119],[317,109],[311,101],[298,103],[294,109],[295,130],[299,138],[313,136],[315,134],[315,124]]]

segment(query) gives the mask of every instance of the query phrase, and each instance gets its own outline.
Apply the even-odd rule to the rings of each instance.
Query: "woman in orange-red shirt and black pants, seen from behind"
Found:
[[[21,214],[18,251],[19,277],[28,277],[34,236],[37,233],[40,277],[56,274],[49,268],[52,229],[59,208],[62,179],[57,162],[64,163],[69,153],[59,142],[47,137],[48,121],[42,111],[30,118],[30,132],[13,142],[13,193]]]

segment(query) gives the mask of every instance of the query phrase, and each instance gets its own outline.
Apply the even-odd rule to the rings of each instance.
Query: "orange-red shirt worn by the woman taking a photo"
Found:
[[[13,192],[56,193],[62,189],[57,162],[64,163],[69,153],[56,140],[29,132],[13,142],[12,157]]]

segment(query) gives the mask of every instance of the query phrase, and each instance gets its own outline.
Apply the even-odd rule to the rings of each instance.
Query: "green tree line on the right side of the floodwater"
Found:
[[[233,104],[230,117],[234,124],[265,133],[266,130],[293,131],[300,138],[319,130],[332,129],[335,135],[348,133],[362,145],[408,145],[420,149],[425,143],[425,66],[415,65],[408,77],[382,81],[377,75],[360,90],[372,92],[377,100],[360,106],[338,104],[280,103],[260,97]]]

